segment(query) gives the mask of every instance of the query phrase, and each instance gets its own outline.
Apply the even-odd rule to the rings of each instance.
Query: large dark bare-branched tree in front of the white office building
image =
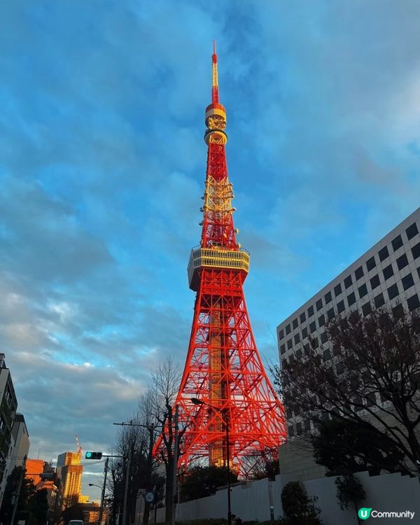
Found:
[[[394,313],[393,313],[394,312]],[[399,449],[403,472],[416,473],[420,461],[420,314],[379,309],[358,311],[327,325],[333,355],[317,341],[302,358],[275,367],[289,416],[305,423],[335,418],[365,426]],[[307,425],[307,437],[313,435]]]

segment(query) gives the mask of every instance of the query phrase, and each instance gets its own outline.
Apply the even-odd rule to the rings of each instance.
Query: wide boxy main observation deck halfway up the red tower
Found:
[[[239,269],[248,274],[249,252],[244,248],[237,251],[232,249],[213,246],[212,248],[201,248],[197,246],[191,250],[188,261],[188,283],[191,290],[197,291],[199,280],[197,272],[201,268]]]

